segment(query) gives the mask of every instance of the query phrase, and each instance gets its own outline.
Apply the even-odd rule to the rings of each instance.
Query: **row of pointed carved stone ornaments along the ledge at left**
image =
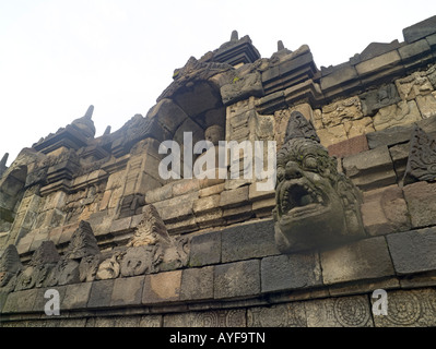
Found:
[[[145,206],[143,219],[127,245],[102,253],[91,225],[81,221],[66,253],[45,241],[26,267],[14,245],[0,260],[0,288],[11,292],[180,268],[188,262],[189,240],[169,237],[156,208]]]

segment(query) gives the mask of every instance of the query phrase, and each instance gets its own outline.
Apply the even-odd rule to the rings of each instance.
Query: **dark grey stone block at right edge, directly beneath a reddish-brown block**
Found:
[[[392,233],[387,241],[398,274],[436,269],[435,228]]]

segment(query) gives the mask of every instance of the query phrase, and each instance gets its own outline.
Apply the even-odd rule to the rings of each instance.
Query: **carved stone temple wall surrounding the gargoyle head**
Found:
[[[0,163],[0,326],[436,326],[436,17],[403,36],[318,69],[306,45],[261,58],[234,32],[175,70],[145,117],[95,137],[91,106]],[[340,196],[345,217],[358,210],[344,234],[361,232],[334,245],[316,245],[320,226],[310,248],[283,250],[283,186],[158,173],[160,145],[184,132],[288,154],[295,116],[335,158],[317,173],[358,189]],[[322,202],[292,188],[298,212]],[[59,315],[45,313],[47,290]]]

